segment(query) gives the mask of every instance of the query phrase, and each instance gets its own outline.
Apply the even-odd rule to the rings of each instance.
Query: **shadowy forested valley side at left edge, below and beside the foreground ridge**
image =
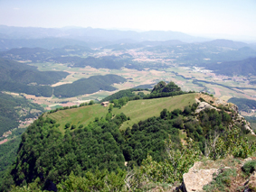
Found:
[[[36,109],[36,111],[34,110]],[[0,145],[0,180],[5,176],[5,170],[15,160],[16,152],[21,142],[21,134],[24,128],[19,128],[18,121],[24,121],[26,118],[36,118],[44,112],[43,107],[26,100],[22,96],[10,96],[0,93],[0,136],[7,131],[12,131],[8,142]]]

